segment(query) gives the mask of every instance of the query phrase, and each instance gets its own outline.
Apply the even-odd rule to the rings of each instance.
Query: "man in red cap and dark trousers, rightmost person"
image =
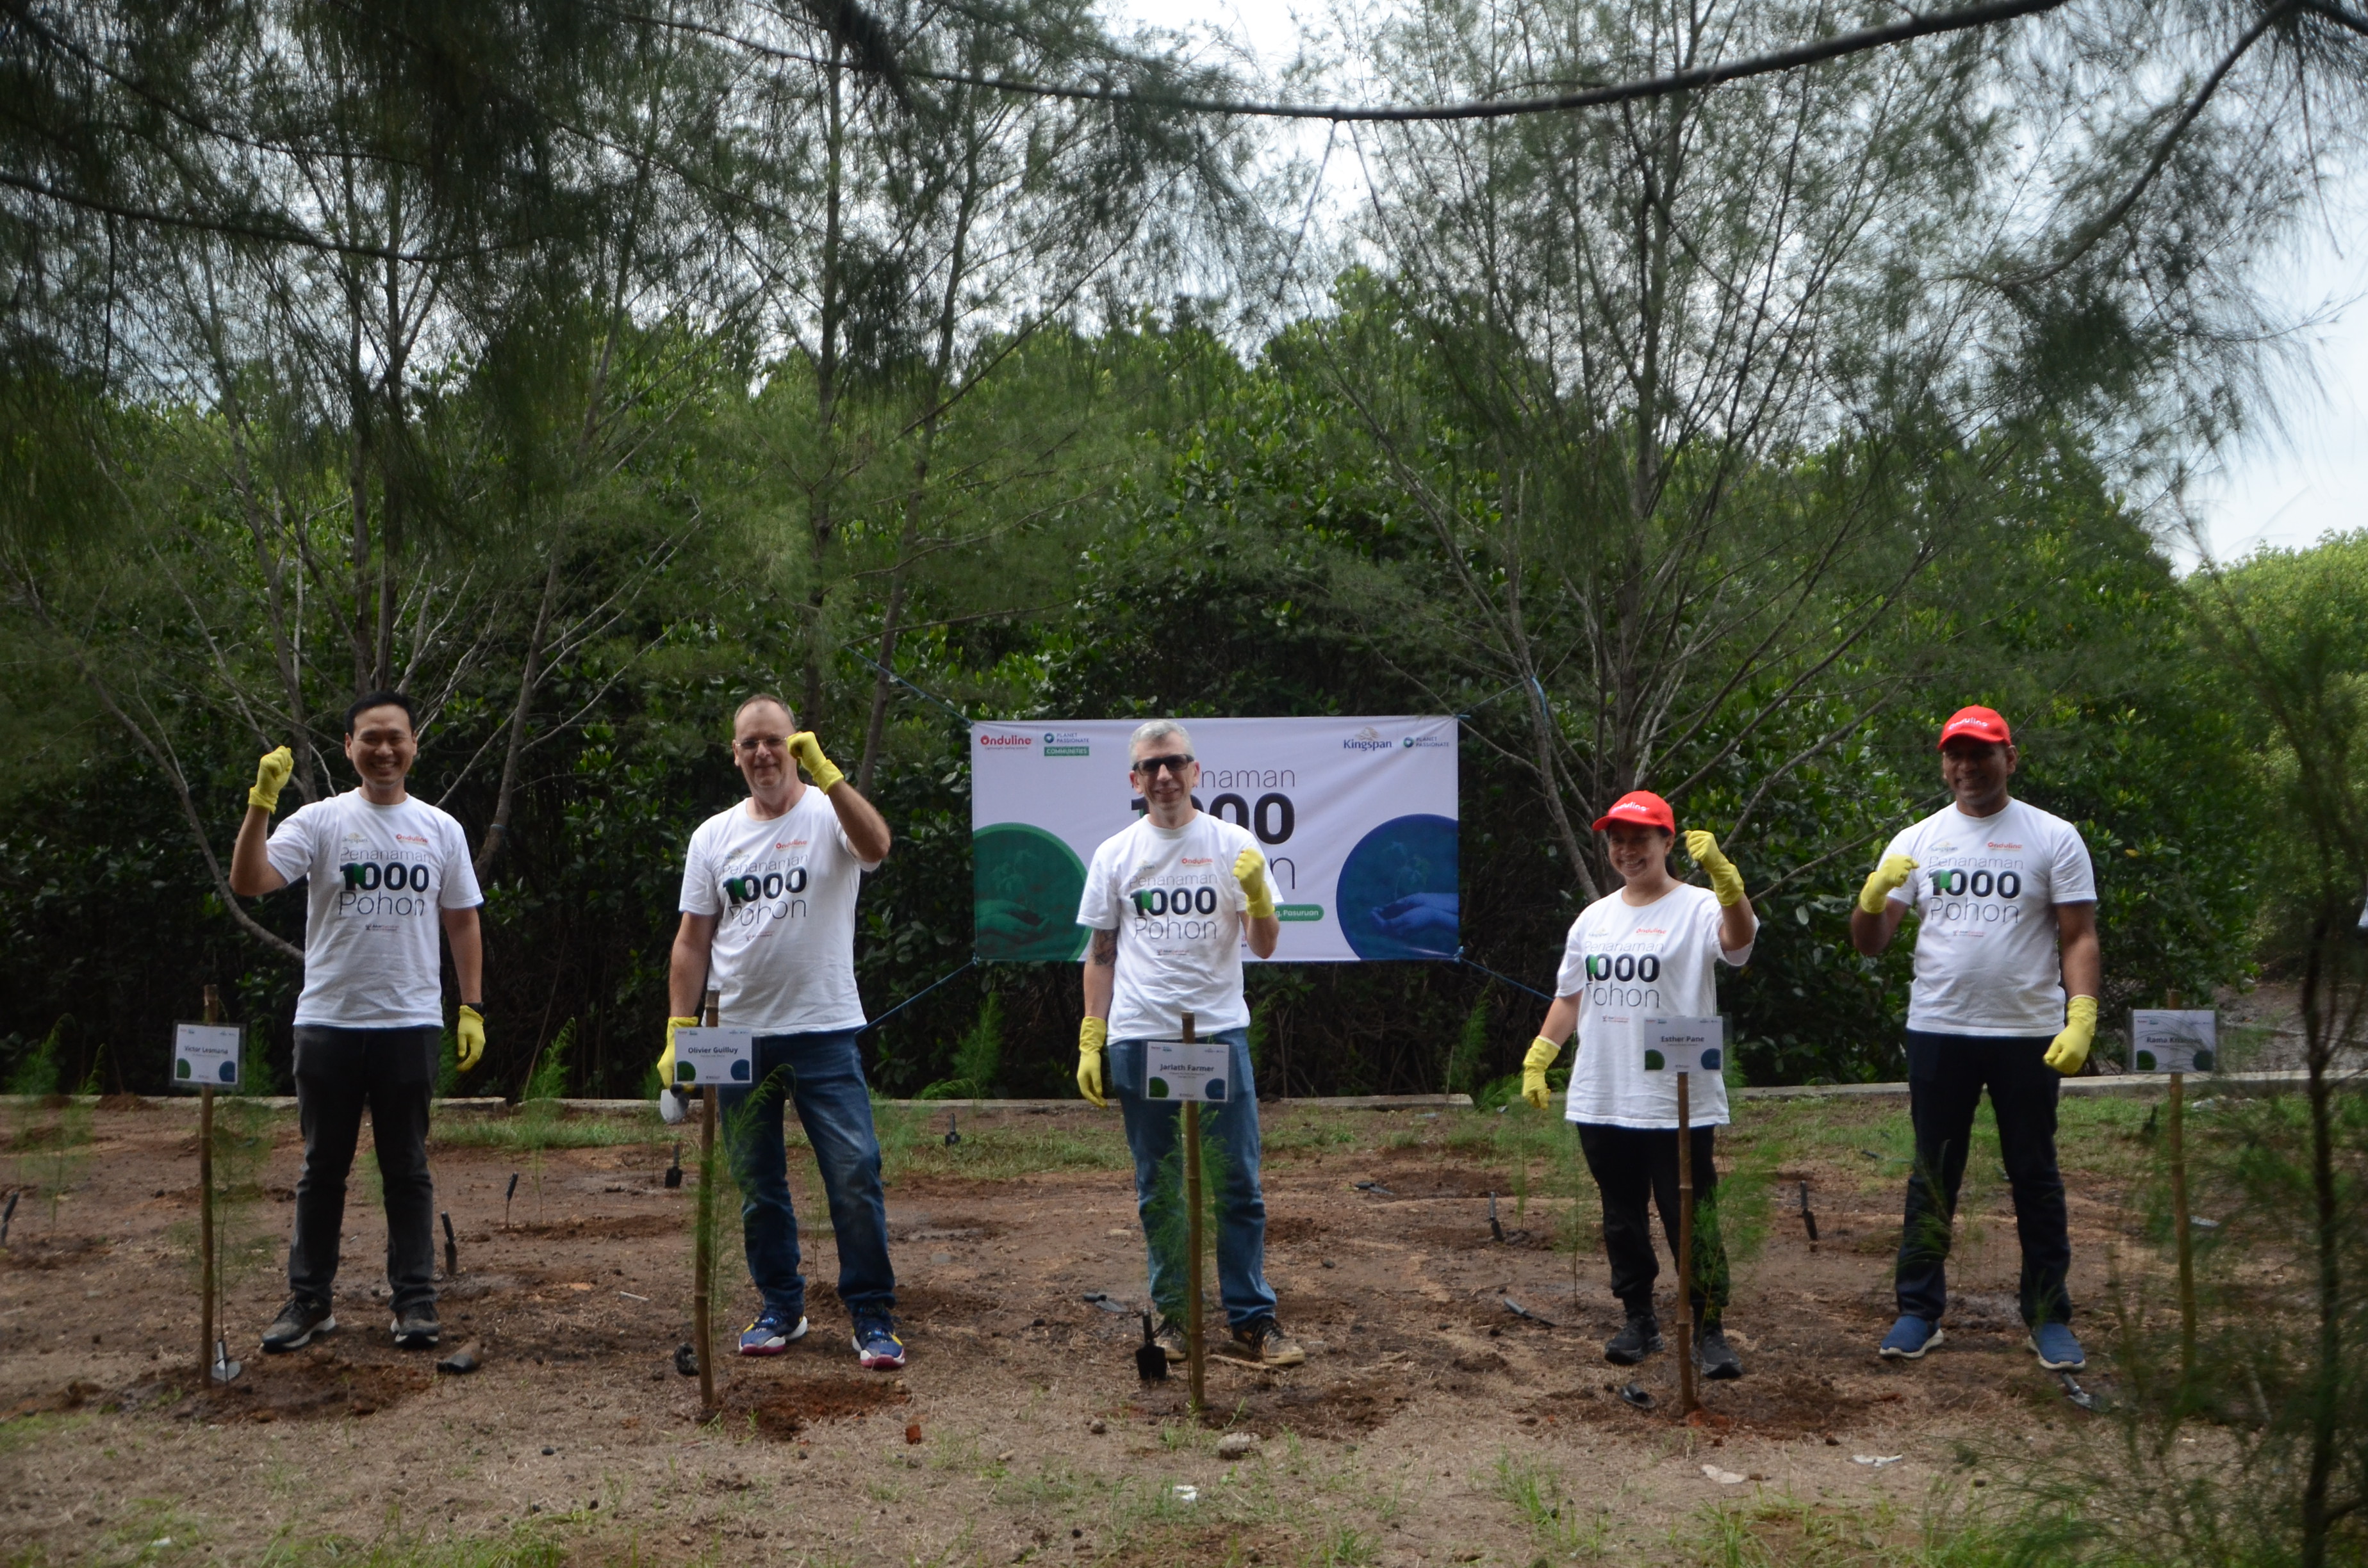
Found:
[[[2008,793],[2020,753],[1991,708],[1958,708],[1939,732],[1939,777],[1956,796],[1892,838],[1849,914],[1866,957],[1913,910],[1909,1116],[1916,1168],[1899,1229],[1899,1322],[1890,1360],[1942,1343],[1949,1227],[1973,1113],[1989,1090],[2022,1241],[2022,1322],[2048,1371],[2086,1367],[2072,1336],[2072,1236],[2055,1168],[2055,1097],[2096,1040],[2103,959],[2096,872],[2079,829]]]

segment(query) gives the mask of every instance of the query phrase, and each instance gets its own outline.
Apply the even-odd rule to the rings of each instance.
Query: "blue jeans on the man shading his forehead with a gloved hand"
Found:
[[[789,1203],[789,1149],[781,1144],[784,1097],[798,1104],[798,1125],[822,1168],[822,1196],[838,1236],[838,1300],[857,1322],[888,1312],[895,1307],[888,1199],[881,1191],[881,1142],[871,1127],[871,1090],[855,1052],[855,1030],[758,1035],[755,1087],[722,1090],[715,1097],[732,1175],[741,1187],[748,1277],[767,1307],[789,1322],[805,1315],[798,1215]]]

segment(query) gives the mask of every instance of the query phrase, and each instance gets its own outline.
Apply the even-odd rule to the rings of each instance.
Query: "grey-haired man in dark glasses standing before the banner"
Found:
[[[1241,995],[1241,945],[1272,957],[1281,938],[1274,883],[1257,841],[1193,805],[1201,763],[1184,725],[1156,718],[1127,741],[1127,770],[1144,815],[1103,841],[1085,874],[1077,924],[1085,952],[1085,1023],[1077,1092],[1096,1106],[1118,1094],[1134,1151],[1134,1208],[1151,1260],[1158,1343],[1170,1362],[1191,1350],[1184,1303],[1182,1108],[1148,1097],[1151,1040],[1193,1035],[1231,1054],[1224,1099],[1201,1118],[1205,1165],[1217,1187],[1217,1293],[1229,1336],[1220,1355],[1298,1367],[1307,1352],[1274,1322],[1267,1284],[1267,1199],[1257,1182],[1257,1085],[1250,1073],[1250,1004]],[[1108,1066],[1103,1066],[1108,1054]]]

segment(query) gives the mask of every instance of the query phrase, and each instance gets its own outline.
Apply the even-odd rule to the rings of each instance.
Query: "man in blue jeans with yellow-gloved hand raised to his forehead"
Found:
[[[781,1101],[793,1099],[831,1206],[838,1300],[855,1322],[855,1355],[893,1371],[905,1364],[905,1341],[895,1334],[888,1199],[871,1087],[855,1049],[864,1028],[855,895],[864,872],[888,857],[888,822],[779,696],[751,696],[732,715],[732,760],[748,779],[748,798],[701,822],[682,862],[673,1016],[658,1075],[673,1082],[675,1030],[699,1023],[708,985],[722,990],[725,1023],[755,1030],[755,1087],[718,1097],[744,1194],[748,1277],[765,1298],[739,1352],[779,1355],[807,1326],[781,1139]],[[800,763],[812,786],[798,777]]]

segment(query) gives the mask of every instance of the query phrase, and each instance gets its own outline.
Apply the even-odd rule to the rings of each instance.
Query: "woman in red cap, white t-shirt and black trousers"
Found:
[[[1613,801],[1596,820],[1608,838],[1622,888],[1579,912],[1563,945],[1563,971],[1553,983],[1553,1007],[1523,1061],[1520,1092],[1546,1108],[1546,1068],[1572,1028],[1579,1054],[1570,1063],[1563,1118],[1579,1130],[1579,1151],[1603,1194],[1603,1253],[1613,1267],[1613,1296],[1627,1324],[1603,1345],[1603,1360],[1634,1367],[1662,1348],[1653,1315],[1653,1222],[1646,1201],[1660,1208],[1660,1227],[1677,1255],[1677,1073],[1648,1073],[1636,1049],[1636,1018],[1707,1018],[1719,1011],[1714,964],[1745,964],[1759,917],[1743,895],[1743,874],[1719,853],[1719,841],[1695,829],[1686,853],[1710,876],[1707,888],[1669,876],[1677,817],[1650,791]],[[1700,1199],[1719,1187],[1712,1165],[1712,1132],[1726,1120],[1726,1082],[1703,1073],[1691,1085],[1693,1182]],[[1726,1343],[1726,1248],[1712,1213],[1693,1227],[1693,1338],[1703,1376],[1738,1379],[1743,1362]]]

